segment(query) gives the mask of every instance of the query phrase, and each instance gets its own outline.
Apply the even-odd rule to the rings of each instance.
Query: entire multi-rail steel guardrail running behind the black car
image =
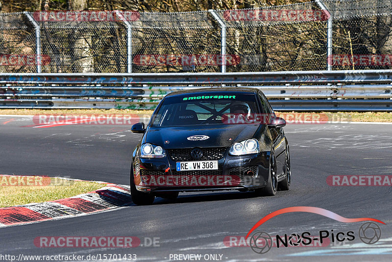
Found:
[[[245,86],[275,110],[392,111],[392,70],[162,74],[4,74],[0,108],[154,109],[173,91]]]

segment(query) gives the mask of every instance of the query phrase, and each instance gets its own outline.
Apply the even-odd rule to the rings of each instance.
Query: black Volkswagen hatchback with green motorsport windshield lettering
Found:
[[[291,182],[290,150],[267,98],[254,88],[208,88],[167,95],[144,123],[132,155],[136,205],[179,192],[232,190],[273,196]]]

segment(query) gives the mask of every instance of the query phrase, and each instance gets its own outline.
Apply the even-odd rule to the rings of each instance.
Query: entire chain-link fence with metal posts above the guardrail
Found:
[[[392,1],[315,0],[183,13],[0,14],[0,72],[392,68]]]

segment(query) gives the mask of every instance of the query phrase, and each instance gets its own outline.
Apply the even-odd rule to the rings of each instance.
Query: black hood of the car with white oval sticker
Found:
[[[243,124],[214,125],[208,126],[208,128],[205,126],[149,128],[143,142],[159,145],[166,149],[228,147],[234,142],[253,137],[259,127],[259,124]],[[196,141],[187,139],[194,135],[206,135],[209,136],[209,138]],[[169,144],[166,144],[165,141],[169,141]]]

